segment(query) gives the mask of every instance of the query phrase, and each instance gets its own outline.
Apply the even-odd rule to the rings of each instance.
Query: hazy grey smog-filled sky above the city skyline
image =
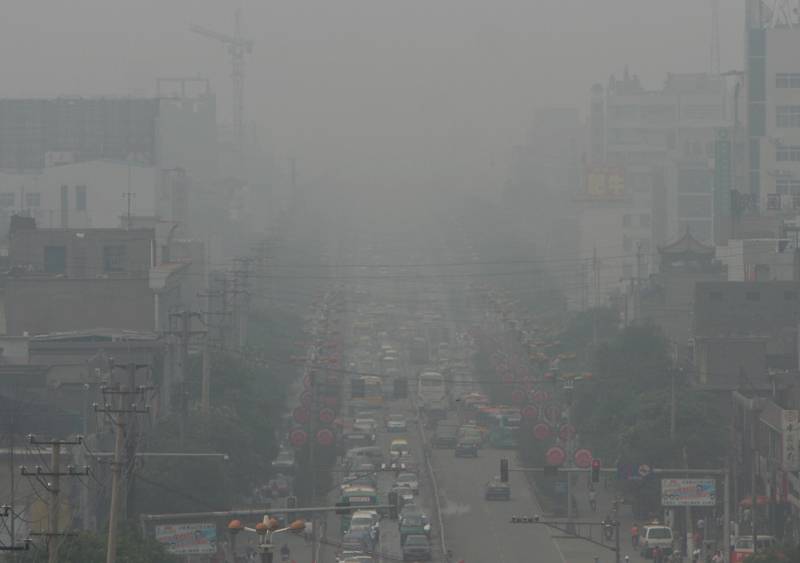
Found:
[[[742,67],[744,0],[721,1],[722,69]],[[0,96],[152,95],[212,79],[233,0],[3,0]],[[317,183],[496,190],[534,110],[582,111],[625,64],[647,87],[709,68],[706,0],[247,0],[247,116]]]

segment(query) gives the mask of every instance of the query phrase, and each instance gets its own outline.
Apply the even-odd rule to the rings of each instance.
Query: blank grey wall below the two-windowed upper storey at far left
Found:
[[[152,330],[153,293],[135,279],[9,278],[6,323],[10,335],[108,327]]]

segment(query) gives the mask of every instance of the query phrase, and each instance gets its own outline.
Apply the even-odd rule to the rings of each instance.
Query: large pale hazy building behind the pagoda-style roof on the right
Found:
[[[647,90],[626,69],[606,88],[593,86],[591,96],[581,256],[606,270],[592,282],[611,294],[655,269],[659,245],[686,231],[712,241],[715,138],[729,127],[726,85],[718,76],[669,74],[661,89]]]

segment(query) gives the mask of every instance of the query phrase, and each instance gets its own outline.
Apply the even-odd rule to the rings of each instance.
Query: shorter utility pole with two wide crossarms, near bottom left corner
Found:
[[[47,562],[58,563],[58,548],[61,538],[70,535],[63,530],[59,530],[59,513],[61,511],[61,477],[78,477],[89,475],[89,468],[84,467],[76,470],[70,465],[66,473],[61,471],[61,447],[78,446],[83,443],[83,437],[78,436],[74,440],[37,440],[32,434],[28,436],[31,445],[50,446],[50,467],[49,470],[36,466],[33,470],[23,466],[20,473],[25,477],[31,477],[41,482],[42,478],[49,478],[44,484],[47,492],[50,493],[50,501],[47,505],[47,532],[31,535],[43,535],[47,538]]]

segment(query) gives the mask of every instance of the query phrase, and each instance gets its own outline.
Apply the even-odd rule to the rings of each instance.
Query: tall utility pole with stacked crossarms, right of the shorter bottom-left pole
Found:
[[[118,367],[118,366],[112,366]],[[110,395],[112,403],[106,402],[105,404],[94,405],[95,412],[101,412],[107,415],[114,426],[116,427],[116,437],[114,442],[114,461],[111,465],[111,508],[108,517],[108,549],[106,551],[106,563],[115,563],[117,560],[117,535],[118,535],[118,522],[122,516],[123,499],[123,464],[125,456],[125,439],[126,435],[132,438],[133,425],[135,423],[134,415],[146,414],[150,412],[150,408],[140,406],[137,402],[129,405],[126,404],[127,397],[135,397],[134,401],[141,399],[143,393],[150,389],[149,387],[136,386],[136,372],[140,368],[149,367],[147,364],[128,364],[128,385],[115,385],[113,389],[103,388],[103,395]],[[135,447],[135,441],[131,440]],[[134,452],[135,453],[135,452]],[[130,451],[128,452],[130,455]]]

